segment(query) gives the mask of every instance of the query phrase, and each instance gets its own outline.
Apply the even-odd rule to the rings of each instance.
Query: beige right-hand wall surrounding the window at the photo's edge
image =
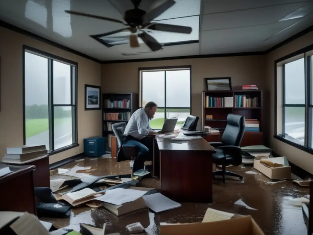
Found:
[[[294,41],[272,51],[266,55],[266,70],[267,70],[267,79],[268,86],[267,89],[270,90],[270,138],[273,150],[282,155],[286,156],[288,160],[295,165],[301,167],[302,169],[313,174],[313,156],[312,154],[306,153],[300,149],[297,149],[289,144],[275,139],[274,128],[275,128],[275,60],[280,59],[281,57],[288,55],[292,52],[300,50],[306,46],[309,46],[313,43],[313,32],[305,34],[304,36],[295,39]]]

